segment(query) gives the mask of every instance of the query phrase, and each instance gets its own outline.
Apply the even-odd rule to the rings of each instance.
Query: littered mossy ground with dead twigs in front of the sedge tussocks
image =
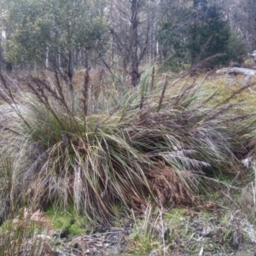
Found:
[[[34,212],[31,219],[45,227],[45,235],[38,235],[38,255],[256,255],[256,225],[248,191],[241,189],[232,199],[218,191],[198,207],[121,218],[79,236],[70,234],[67,227],[55,230],[44,213]],[[27,240],[22,256],[30,255],[33,242]]]

